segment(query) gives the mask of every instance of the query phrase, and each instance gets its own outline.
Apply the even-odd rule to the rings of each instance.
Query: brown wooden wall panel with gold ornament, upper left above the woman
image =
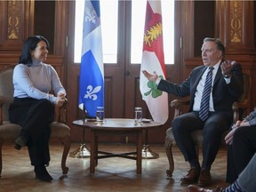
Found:
[[[23,40],[32,34],[29,23],[33,23],[33,5],[29,1],[0,1],[0,52],[20,52]]]

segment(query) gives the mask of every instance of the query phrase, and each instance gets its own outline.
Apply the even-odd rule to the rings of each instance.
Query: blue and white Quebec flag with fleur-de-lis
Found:
[[[84,29],[80,67],[79,108],[91,117],[104,107],[104,68],[100,28],[100,1],[84,3]]]

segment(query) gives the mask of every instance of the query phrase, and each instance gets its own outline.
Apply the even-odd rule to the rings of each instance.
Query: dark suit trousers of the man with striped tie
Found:
[[[173,119],[172,132],[185,160],[193,166],[195,162],[198,162],[198,158],[191,132],[203,130],[202,167],[211,170],[212,163],[220,148],[221,134],[228,130],[230,124],[232,124],[232,116],[229,113],[211,113],[209,118],[203,122],[199,118],[198,112],[189,112]]]

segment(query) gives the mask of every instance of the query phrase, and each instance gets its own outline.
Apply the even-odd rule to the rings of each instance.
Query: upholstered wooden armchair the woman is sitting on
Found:
[[[12,84],[13,67],[5,68],[0,72],[0,177],[2,172],[2,146],[4,143],[13,144],[20,135],[21,127],[18,124],[12,124],[9,121],[8,109],[13,100],[13,84]],[[60,140],[64,146],[61,169],[63,174],[68,173],[66,160],[70,149],[70,128],[66,125],[66,106],[55,108],[55,121],[51,124],[51,140]],[[51,145],[50,145],[51,148]]]

